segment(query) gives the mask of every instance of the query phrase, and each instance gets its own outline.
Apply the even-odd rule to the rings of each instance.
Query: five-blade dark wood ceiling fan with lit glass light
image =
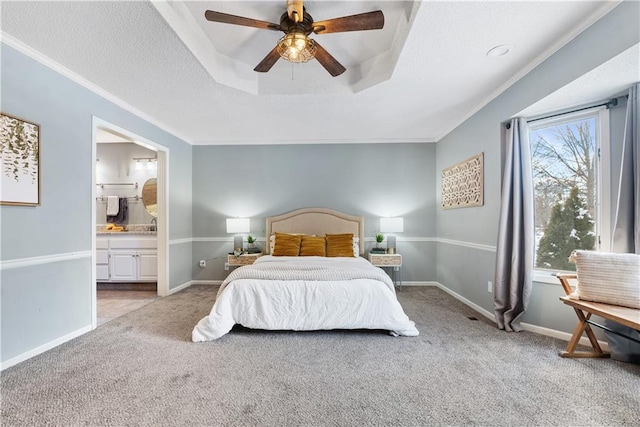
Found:
[[[280,24],[212,10],[207,10],[204,16],[212,22],[282,31],[285,34],[273,50],[254,68],[254,71],[260,73],[269,71],[280,58],[290,62],[307,62],[315,58],[332,76],[339,76],[345,72],[342,64],[317,41],[310,39],[308,36],[311,33],[327,34],[379,30],[384,27],[384,15],[380,10],[314,22],[303,6],[302,0],[287,0],[287,11],[280,17]]]

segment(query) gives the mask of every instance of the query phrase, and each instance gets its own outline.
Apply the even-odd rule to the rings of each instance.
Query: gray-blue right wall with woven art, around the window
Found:
[[[437,170],[473,154],[485,153],[485,205],[446,211],[438,209],[438,237],[496,245],[500,212],[501,123],[638,43],[639,6],[638,2],[621,3],[438,142]],[[614,95],[617,94],[611,94]],[[612,111],[612,126],[620,123],[620,111],[621,108]],[[619,134],[619,129],[612,129],[613,138],[618,138]],[[440,185],[439,179],[437,185]],[[493,295],[487,292],[487,281],[493,280],[495,252],[439,243],[437,255],[437,280],[493,312]],[[461,262],[464,268],[460,268]],[[523,321],[571,332],[575,315],[558,301],[562,294],[559,286],[534,283],[531,304]]]

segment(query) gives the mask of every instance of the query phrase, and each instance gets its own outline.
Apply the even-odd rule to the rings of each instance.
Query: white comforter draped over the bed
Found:
[[[193,341],[211,341],[233,325],[268,330],[385,329],[416,336],[389,276],[364,258],[262,256],[233,271]]]

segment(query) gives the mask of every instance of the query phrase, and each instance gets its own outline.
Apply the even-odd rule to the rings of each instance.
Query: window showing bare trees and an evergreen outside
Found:
[[[575,271],[574,249],[608,247],[608,118],[599,108],[529,122],[536,270]]]

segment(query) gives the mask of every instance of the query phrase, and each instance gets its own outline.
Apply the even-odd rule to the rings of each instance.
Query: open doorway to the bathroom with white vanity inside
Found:
[[[167,294],[168,151],[94,118],[93,327]]]

